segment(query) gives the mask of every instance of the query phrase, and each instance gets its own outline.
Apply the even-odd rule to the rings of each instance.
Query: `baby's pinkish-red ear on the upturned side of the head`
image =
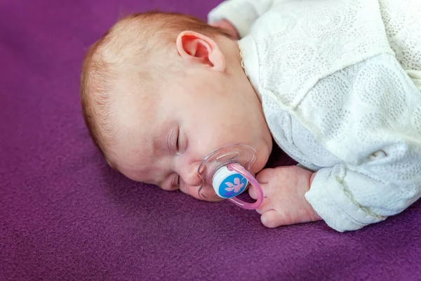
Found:
[[[177,51],[181,58],[200,63],[220,72],[225,71],[225,56],[213,39],[203,34],[183,31],[177,37]]]

